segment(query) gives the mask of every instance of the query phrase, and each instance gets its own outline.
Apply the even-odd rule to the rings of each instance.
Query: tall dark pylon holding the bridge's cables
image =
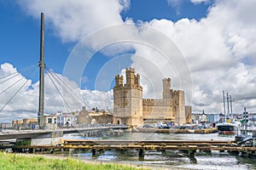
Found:
[[[44,13],[41,13],[41,35],[40,35],[40,77],[39,77],[39,109],[38,124],[44,128]]]

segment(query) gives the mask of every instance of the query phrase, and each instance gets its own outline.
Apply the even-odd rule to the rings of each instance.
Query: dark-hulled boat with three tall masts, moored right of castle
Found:
[[[226,116],[226,107],[225,107],[225,99],[227,99],[227,106],[228,106],[228,112]],[[238,130],[238,125],[233,122],[232,120],[232,99],[231,95],[227,93],[227,97],[225,98],[224,96],[224,91],[223,91],[223,101],[224,101],[224,122],[218,123],[216,125],[218,129],[218,134],[236,134]],[[231,112],[230,112],[231,111]]]

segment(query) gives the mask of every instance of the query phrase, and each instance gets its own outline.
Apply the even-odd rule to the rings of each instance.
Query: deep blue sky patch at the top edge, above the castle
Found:
[[[134,21],[153,19],[177,21],[183,18],[201,20],[201,18],[206,17],[207,8],[211,4],[211,2],[194,4],[183,0],[179,1],[178,4],[171,4],[165,0],[132,0],[131,7],[122,13],[122,17],[124,20],[126,17],[131,17]]]

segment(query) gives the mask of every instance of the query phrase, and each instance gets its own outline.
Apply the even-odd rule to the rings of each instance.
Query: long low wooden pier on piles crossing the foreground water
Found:
[[[218,140],[84,140],[65,139],[58,145],[13,145],[12,150],[36,152],[37,150],[91,150],[92,156],[104,152],[104,150],[138,150],[139,159],[142,160],[145,150],[183,150],[188,156],[194,156],[196,151],[228,151],[247,156],[256,155],[256,147],[239,146],[236,141]]]

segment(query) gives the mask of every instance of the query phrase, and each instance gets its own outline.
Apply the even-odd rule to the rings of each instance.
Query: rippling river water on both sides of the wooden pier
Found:
[[[66,136],[67,139],[86,139],[81,136]],[[88,139],[88,138],[87,138]],[[99,138],[98,138],[99,139]],[[169,134],[169,133],[124,133],[121,137],[106,137],[100,139],[129,139],[129,140],[234,140],[234,136],[219,136],[218,133],[209,134]],[[144,160],[139,161],[137,150],[125,152],[107,150],[101,156],[92,157],[91,152],[73,154],[84,160],[112,161],[117,163],[136,164],[139,166],[154,166],[163,168],[184,169],[224,169],[241,170],[256,169],[256,158],[231,155],[228,152],[212,151],[211,153],[197,151],[195,158],[189,158],[183,152],[167,150],[146,150]]]

